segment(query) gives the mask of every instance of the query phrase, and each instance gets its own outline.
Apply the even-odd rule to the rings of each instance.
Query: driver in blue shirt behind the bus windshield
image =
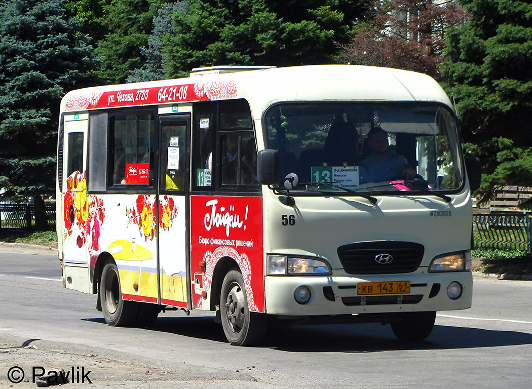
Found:
[[[361,184],[415,177],[416,172],[406,158],[388,149],[388,133],[382,128],[375,127],[369,131],[368,146],[371,154],[359,164]]]

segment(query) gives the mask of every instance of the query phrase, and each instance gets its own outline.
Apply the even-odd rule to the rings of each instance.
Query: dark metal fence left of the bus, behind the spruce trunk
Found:
[[[0,228],[34,229],[34,204],[0,204]],[[55,204],[46,204],[46,224],[55,229]]]

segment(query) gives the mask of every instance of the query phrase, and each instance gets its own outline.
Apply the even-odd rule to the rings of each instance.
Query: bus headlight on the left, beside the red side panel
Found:
[[[268,254],[266,274],[269,276],[310,274],[327,275],[331,274],[331,270],[329,264],[325,260]]]

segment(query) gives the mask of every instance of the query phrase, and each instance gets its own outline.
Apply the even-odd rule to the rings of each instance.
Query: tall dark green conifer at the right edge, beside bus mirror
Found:
[[[483,158],[480,195],[532,186],[532,4],[462,0],[471,19],[447,34],[440,66],[468,148]]]

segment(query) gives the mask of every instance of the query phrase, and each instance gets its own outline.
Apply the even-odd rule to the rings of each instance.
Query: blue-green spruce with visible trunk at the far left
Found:
[[[54,194],[61,97],[96,65],[78,27],[61,0],[0,5],[0,199],[34,197],[38,228]]]

